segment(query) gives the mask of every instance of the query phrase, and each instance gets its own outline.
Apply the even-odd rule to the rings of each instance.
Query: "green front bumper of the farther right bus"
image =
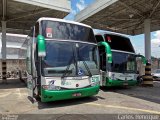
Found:
[[[134,86],[137,84],[137,80],[106,80],[106,86]]]

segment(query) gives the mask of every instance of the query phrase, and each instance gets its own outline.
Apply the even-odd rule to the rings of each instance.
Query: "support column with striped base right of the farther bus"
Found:
[[[147,64],[145,67],[145,76],[143,79],[143,86],[153,86],[153,78],[151,76],[151,33],[150,33],[150,19],[144,21],[144,33],[145,33],[145,57]]]

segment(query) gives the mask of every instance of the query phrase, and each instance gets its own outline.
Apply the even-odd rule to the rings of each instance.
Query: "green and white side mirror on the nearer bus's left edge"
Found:
[[[45,38],[42,35],[37,36],[38,43],[38,56],[45,57],[46,56],[46,42]]]

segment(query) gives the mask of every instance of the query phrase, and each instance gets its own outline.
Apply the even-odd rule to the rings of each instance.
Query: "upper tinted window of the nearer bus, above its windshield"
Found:
[[[42,34],[46,38],[96,43],[91,28],[58,21],[42,21],[41,24]]]

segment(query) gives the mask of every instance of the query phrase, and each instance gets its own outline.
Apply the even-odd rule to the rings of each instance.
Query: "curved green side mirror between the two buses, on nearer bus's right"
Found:
[[[98,46],[104,46],[105,47],[105,52],[108,58],[108,63],[112,63],[112,52],[111,52],[111,47],[107,42],[99,42]]]

